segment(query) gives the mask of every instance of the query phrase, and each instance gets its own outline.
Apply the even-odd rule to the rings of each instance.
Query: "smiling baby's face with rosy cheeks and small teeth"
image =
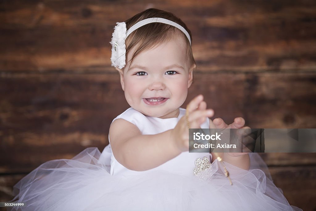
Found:
[[[129,52],[127,61],[134,51]],[[128,104],[144,115],[177,117],[192,83],[185,52],[182,38],[171,40],[138,54],[130,69],[126,64],[120,76]]]

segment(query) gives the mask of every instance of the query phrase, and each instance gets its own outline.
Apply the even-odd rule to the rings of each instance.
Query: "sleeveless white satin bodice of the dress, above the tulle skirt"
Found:
[[[146,116],[133,108],[129,108],[125,110],[122,114],[114,118],[113,121],[116,119],[122,118],[136,125],[142,134],[152,135],[152,134],[162,133],[174,128],[183,115],[185,115],[185,109],[183,108],[180,108],[178,117],[167,118],[167,119]],[[209,122],[209,119],[207,118],[206,121],[203,124],[201,124],[201,128],[209,128],[209,125],[210,125],[210,122]],[[193,176],[192,171],[193,171],[193,168],[196,167],[195,166],[196,158],[202,158],[203,156],[207,156],[208,158],[211,159],[210,153],[196,153],[196,152],[194,153],[194,152],[186,151],[186,152],[182,152],[177,157],[153,169],[150,169],[147,171],[132,171],[125,168],[122,164],[120,164],[115,159],[111,150],[112,141],[115,141],[115,140],[109,139],[110,144],[104,148],[100,157],[101,162],[107,162],[108,161],[107,159],[110,157],[111,175],[118,175],[118,174],[135,175],[135,174],[142,174],[142,172],[164,170],[164,171],[173,172],[175,174]]]

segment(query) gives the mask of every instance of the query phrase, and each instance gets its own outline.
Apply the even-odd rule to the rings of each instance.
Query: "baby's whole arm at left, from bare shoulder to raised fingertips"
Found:
[[[198,128],[211,117],[211,109],[196,110],[203,101],[203,96],[195,97],[188,104],[188,121],[191,128]],[[189,150],[189,132],[185,116],[175,128],[155,135],[143,135],[131,122],[117,119],[112,122],[109,131],[111,148],[117,161],[134,171],[155,168],[168,160]]]

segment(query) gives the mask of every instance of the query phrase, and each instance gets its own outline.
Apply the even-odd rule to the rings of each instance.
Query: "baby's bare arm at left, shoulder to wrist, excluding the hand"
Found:
[[[171,138],[172,130],[142,135],[131,122],[117,119],[110,126],[109,136],[116,160],[134,171],[155,168],[181,153]]]

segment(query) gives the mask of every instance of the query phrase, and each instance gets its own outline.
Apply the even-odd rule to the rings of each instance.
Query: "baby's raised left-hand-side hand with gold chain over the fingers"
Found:
[[[208,117],[214,115],[213,109],[206,109],[206,102],[203,101],[203,95],[198,95],[191,100],[187,106],[187,120],[184,115],[172,130],[175,146],[181,152],[189,150],[189,128],[200,128],[200,125]]]

